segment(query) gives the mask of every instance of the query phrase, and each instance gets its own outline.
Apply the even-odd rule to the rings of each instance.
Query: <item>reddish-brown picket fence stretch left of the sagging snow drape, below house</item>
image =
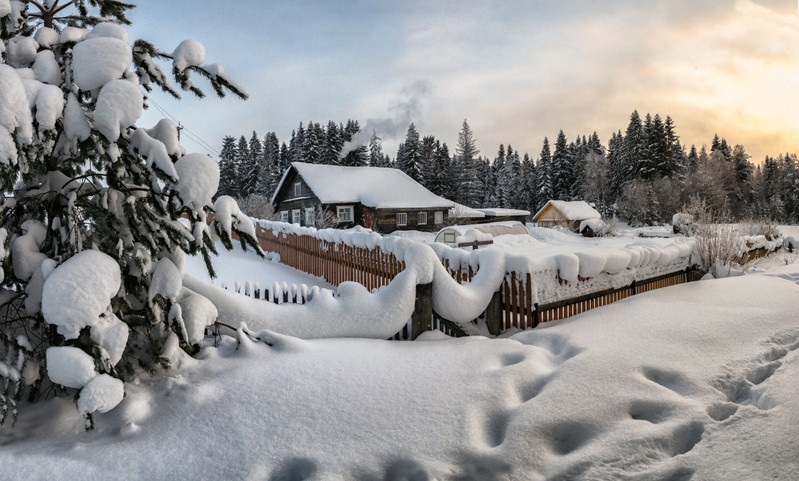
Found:
[[[258,243],[265,251],[276,252],[280,262],[308,274],[324,277],[339,285],[354,281],[368,290],[388,285],[405,269],[405,262],[379,247],[372,250],[328,242],[309,235],[275,234],[256,226]]]

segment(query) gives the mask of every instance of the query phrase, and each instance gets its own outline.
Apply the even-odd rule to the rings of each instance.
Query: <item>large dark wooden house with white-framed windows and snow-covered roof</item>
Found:
[[[439,230],[454,203],[398,169],[293,162],[272,196],[280,220],[375,232]],[[321,214],[321,215],[320,215]]]

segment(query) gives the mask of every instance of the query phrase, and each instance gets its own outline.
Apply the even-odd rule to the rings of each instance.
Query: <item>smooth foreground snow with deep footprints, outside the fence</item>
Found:
[[[285,275],[248,255],[216,265]],[[796,479],[799,261],[753,270],[506,339],[224,338],[128,384],[95,432],[70,399],[26,406],[0,476]]]

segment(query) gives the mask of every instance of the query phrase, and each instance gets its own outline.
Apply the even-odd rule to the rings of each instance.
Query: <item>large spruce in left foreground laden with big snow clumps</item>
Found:
[[[246,95],[195,41],[171,54],[131,46],[120,26],[130,8],[0,0],[0,422],[51,382],[48,392],[79,390],[91,428],[135,369],[168,364],[169,347],[194,352],[214,321],[213,305],[182,287],[182,255],[211,269],[213,236],[229,244],[231,228],[256,246],[228,197],[206,223],[214,160],[186,154],[171,121],[135,126],[145,92],[179,97],[171,78],[200,97],[192,76]]]

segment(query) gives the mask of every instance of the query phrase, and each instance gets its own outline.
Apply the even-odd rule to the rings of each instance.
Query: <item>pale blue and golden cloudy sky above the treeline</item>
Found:
[[[670,115],[687,146],[718,133],[755,162],[799,152],[796,0],[134,3],[132,38],[198,40],[249,94],[155,94],[140,124],[173,117],[192,151],[347,119],[392,157],[410,122],[454,151],[467,120],[483,155],[537,158],[561,129],[607,145],[638,110]]]

